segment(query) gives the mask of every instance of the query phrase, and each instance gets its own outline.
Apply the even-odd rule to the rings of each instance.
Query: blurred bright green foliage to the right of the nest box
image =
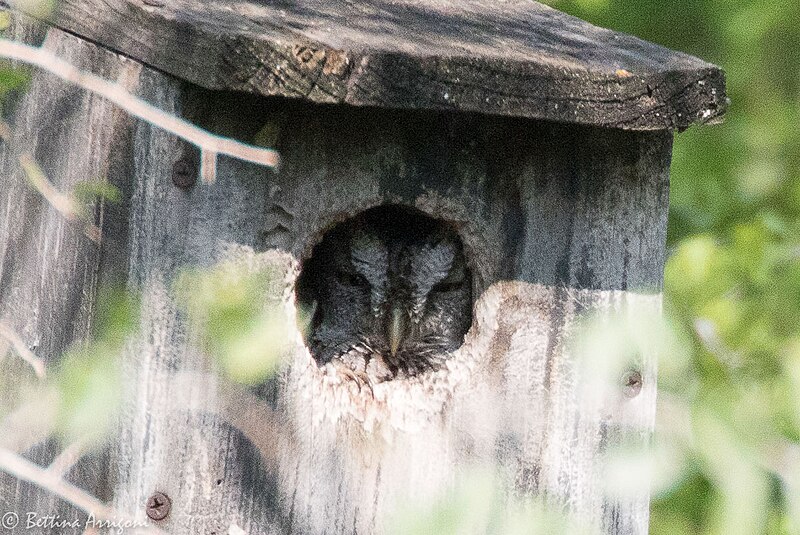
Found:
[[[675,140],[660,388],[691,436],[651,533],[800,533],[800,2],[549,3],[727,75],[725,123]]]

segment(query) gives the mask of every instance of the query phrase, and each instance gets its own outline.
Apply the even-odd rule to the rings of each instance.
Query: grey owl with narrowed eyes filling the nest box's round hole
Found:
[[[307,341],[317,362],[370,386],[439,369],[472,323],[458,235],[395,206],[330,231],[304,266],[298,299],[314,310]]]

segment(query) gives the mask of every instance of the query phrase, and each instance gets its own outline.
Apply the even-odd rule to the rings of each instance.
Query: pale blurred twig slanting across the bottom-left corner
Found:
[[[120,523],[124,522],[129,527],[144,527],[142,522],[137,522],[131,518],[121,515],[118,511],[104,504],[91,494],[84,492],[78,487],[71,485],[61,479],[60,476],[52,474],[38,465],[20,457],[13,451],[0,449],[0,470],[10,474],[17,479],[33,483],[34,485],[51,492],[93,516],[102,522]],[[147,532],[163,534],[164,532],[148,527]]]

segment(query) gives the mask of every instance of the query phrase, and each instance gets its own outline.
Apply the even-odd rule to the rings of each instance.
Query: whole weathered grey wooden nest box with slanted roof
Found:
[[[98,208],[97,244],[4,148],[0,319],[54,363],[88,336],[103,281],[143,303],[118,431],[72,484],[170,533],[393,533],[475,481],[491,511],[532,499],[569,525],[647,533],[648,486],[621,477],[619,452],[653,431],[642,333],[660,308],[673,132],[722,116],[718,67],[529,0],[62,0],[44,21],[15,12],[6,34],[281,158],[220,156],[202,184],[194,147],[35,72],[16,135],[58,189],[101,176],[123,201]],[[370,221],[457,243],[469,302],[442,320],[466,322],[457,347],[365,385],[289,321],[277,376],[216,381],[172,294],[180,270],[268,266],[278,284],[253,299],[293,320],[298,287],[322,299],[336,236]],[[26,448],[43,465],[59,451]],[[13,478],[0,491],[20,511],[84,514]],[[157,521],[155,492],[171,505]],[[498,522],[476,514],[460,533]]]

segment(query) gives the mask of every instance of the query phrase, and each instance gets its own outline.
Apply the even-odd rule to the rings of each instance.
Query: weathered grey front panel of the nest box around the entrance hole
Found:
[[[283,165],[273,173],[224,160],[213,187],[185,193],[170,181],[182,147],[150,127],[137,134],[130,276],[147,296],[147,343],[131,362],[136,414],[118,461],[128,474],[121,506],[159,489],[173,497],[166,526],[176,532],[232,520],[251,533],[377,532],[403,496],[437,495],[473,463],[499,461],[502,446],[514,451],[503,462],[523,489],[606,532],[646,531],[646,493],[608,497],[597,473],[609,428],[632,428],[640,442],[652,428],[652,356],[637,362],[647,388],[633,408],[613,389],[592,405],[564,340],[583,308],[624,309],[634,299],[608,290],[660,288],[671,136],[182,94],[159,76],[147,83],[150,94],[169,95],[162,106],[193,110],[221,133],[246,138],[273,123]],[[203,367],[168,292],[180,266],[213,265],[233,250],[246,264],[275,262],[291,279],[325,229],[383,203],[456,223],[470,251],[483,312],[451,374],[431,388],[378,385],[371,398],[323,377],[298,347],[275,407],[299,445],[285,446],[271,469],[224,421],[198,423],[159,401],[176,374]],[[512,279],[549,286],[501,282]],[[648,299],[657,308],[658,294]],[[190,397],[213,407],[216,395],[198,384]]]

